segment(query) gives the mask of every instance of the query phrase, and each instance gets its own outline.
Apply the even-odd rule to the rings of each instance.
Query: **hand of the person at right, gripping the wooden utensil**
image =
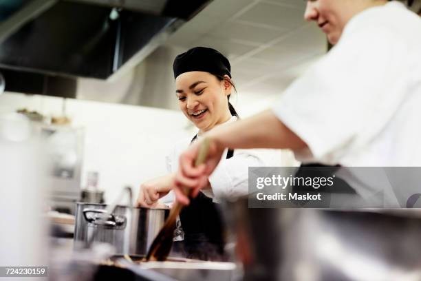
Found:
[[[202,165],[195,167],[199,147],[203,141],[191,145],[180,156],[180,165],[177,174],[175,174],[173,191],[182,205],[190,203],[190,200],[188,200],[189,195],[195,198],[200,189],[210,187],[209,176],[221,160],[224,147],[218,145],[213,138],[209,138],[209,141],[208,153]]]

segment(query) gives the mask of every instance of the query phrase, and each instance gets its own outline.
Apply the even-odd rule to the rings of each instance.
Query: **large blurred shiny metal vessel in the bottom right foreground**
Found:
[[[244,280],[421,280],[420,210],[224,206]]]

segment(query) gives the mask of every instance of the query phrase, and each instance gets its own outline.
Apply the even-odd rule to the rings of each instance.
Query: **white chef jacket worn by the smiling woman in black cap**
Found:
[[[237,120],[236,116],[222,124],[228,124]],[[167,169],[170,173],[177,171],[179,157],[190,145],[191,138],[183,139],[175,144],[169,156],[166,157]],[[200,138],[200,136],[197,136]],[[234,149],[233,157],[226,159],[228,149],[225,150],[222,160],[209,177],[211,190],[202,192],[213,198],[214,202],[220,202],[222,198],[238,198],[248,194],[248,167],[278,167],[296,165],[296,160],[288,151],[280,149]],[[163,202],[169,202],[172,196],[163,198]]]

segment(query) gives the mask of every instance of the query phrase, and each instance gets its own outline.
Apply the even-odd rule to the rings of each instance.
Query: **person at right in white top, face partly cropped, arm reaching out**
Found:
[[[421,18],[385,0],[311,0],[304,17],[334,48],[270,109],[205,134],[205,165],[193,167],[199,143],[189,147],[177,200],[189,202],[182,185],[203,188],[226,147],[289,148],[322,165],[421,166]]]

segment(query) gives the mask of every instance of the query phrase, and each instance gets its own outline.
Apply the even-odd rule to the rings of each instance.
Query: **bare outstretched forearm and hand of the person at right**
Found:
[[[175,174],[175,196],[182,204],[187,205],[189,200],[182,193],[182,188],[193,188],[195,197],[202,189],[208,186],[208,176],[212,174],[221,160],[226,148],[289,148],[304,149],[307,145],[296,136],[288,127],[283,125],[272,110],[266,110],[250,118],[216,127],[206,133],[204,137],[210,139],[208,156],[204,165],[194,167],[195,159],[202,142],[191,145],[180,156],[180,165]]]

